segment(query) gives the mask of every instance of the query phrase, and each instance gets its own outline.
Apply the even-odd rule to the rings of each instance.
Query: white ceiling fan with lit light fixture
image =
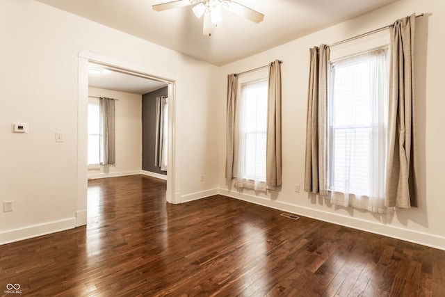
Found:
[[[212,24],[216,24],[221,20],[220,10],[226,9],[236,15],[241,15],[254,23],[262,22],[264,15],[262,13],[243,6],[232,0],[177,0],[167,3],[156,4],[152,8],[156,11],[163,11],[182,6],[192,6],[193,13],[197,18],[204,15],[204,26],[202,28],[202,35],[211,35]]]

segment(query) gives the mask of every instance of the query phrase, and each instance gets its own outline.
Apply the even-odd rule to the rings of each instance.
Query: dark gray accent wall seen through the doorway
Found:
[[[156,97],[167,96],[168,87],[142,95],[142,170],[166,175],[154,166],[156,146]]]

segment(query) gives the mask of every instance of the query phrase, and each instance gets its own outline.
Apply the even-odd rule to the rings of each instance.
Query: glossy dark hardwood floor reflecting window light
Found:
[[[88,182],[88,226],[0,246],[0,295],[445,296],[445,252],[165,182]]]

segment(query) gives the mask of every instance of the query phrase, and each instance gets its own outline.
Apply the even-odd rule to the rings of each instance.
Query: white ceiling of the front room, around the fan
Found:
[[[172,0],[36,0],[119,31],[224,65],[362,15],[397,0],[236,0],[265,15],[255,24],[223,11],[212,35],[202,35],[202,19],[192,6],[156,12],[152,5]]]

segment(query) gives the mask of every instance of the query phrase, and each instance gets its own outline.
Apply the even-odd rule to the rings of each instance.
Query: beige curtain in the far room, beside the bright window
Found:
[[[99,98],[99,158],[101,165],[115,163],[115,102],[114,99]]]

